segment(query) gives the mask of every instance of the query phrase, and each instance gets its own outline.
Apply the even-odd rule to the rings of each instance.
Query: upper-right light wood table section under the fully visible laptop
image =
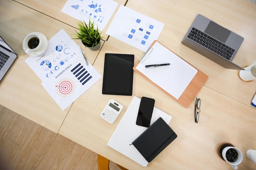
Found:
[[[251,102],[256,94],[256,81],[243,82],[237,70],[223,68],[184,46],[181,41],[200,13],[245,38],[233,62],[240,66],[251,65],[256,60],[256,4],[247,0],[172,0],[165,3],[156,0],[128,0],[126,7],[164,23],[158,41],[208,75],[205,86],[253,107]],[[132,53],[143,54],[111,36],[108,41]]]

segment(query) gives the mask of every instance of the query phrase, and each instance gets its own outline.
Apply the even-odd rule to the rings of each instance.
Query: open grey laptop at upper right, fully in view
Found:
[[[182,44],[229,69],[244,70],[233,63],[244,38],[198,14]]]

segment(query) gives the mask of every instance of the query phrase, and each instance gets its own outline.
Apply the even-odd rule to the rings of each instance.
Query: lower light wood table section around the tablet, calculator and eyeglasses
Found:
[[[131,54],[121,47],[105,42],[94,67],[103,75],[105,53]],[[135,60],[139,55],[135,55]],[[169,170],[169,169],[231,169],[218,156],[218,146],[228,142],[243,152],[243,162],[239,169],[249,169],[256,165],[245,158],[245,152],[256,148],[256,110],[231,97],[203,86],[198,93],[201,112],[198,124],[194,122],[194,103],[184,108],[153,84],[134,72],[132,96],[102,95],[101,78],[94,86],[72,105],[59,133],[97,152],[128,169]],[[107,146],[110,137],[128,108],[133,96],[155,99],[155,107],[173,117],[169,126],[177,134],[175,139],[146,168]],[[124,106],[114,124],[100,117],[101,111],[110,99]]]

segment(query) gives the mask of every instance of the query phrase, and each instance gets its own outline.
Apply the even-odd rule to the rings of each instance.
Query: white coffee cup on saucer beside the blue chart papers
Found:
[[[41,45],[42,45],[42,40],[39,36],[39,33],[37,32],[28,34],[23,40],[23,50],[27,54],[30,54],[32,51],[38,51]]]

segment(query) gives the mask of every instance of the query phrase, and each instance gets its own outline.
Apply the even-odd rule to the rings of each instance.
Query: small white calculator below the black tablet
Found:
[[[113,124],[117,119],[119,113],[121,113],[123,106],[117,103],[115,100],[110,99],[106,107],[101,113],[101,117],[108,121],[108,123]]]

